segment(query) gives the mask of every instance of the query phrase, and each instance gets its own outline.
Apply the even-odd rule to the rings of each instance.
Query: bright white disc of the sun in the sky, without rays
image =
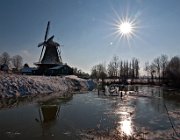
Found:
[[[133,27],[132,27],[132,24],[130,22],[122,22],[120,25],[119,25],[119,32],[122,34],[122,35],[128,35],[128,34],[131,34],[133,31]]]

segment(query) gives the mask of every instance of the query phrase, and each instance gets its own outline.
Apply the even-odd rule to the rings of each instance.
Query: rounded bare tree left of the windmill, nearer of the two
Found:
[[[19,70],[22,67],[23,58],[20,55],[13,56],[11,61],[16,70]]]

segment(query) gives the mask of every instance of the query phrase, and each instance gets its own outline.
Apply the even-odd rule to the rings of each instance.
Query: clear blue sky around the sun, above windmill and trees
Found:
[[[116,55],[141,66],[161,54],[180,52],[179,0],[1,0],[0,53],[20,54],[33,65],[40,56],[47,22],[49,37],[62,44],[62,59],[89,72]],[[136,19],[129,43],[113,33],[115,21]]]

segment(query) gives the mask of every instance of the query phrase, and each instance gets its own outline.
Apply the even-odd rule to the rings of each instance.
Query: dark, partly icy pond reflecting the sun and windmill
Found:
[[[152,86],[128,90],[137,92],[123,98],[88,92],[67,100],[1,101],[0,139],[178,139],[179,91]]]

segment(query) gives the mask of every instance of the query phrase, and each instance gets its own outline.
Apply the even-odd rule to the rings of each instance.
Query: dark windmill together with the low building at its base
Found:
[[[50,22],[46,27],[44,41],[38,44],[38,47],[42,46],[42,51],[39,62],[34,63],[38,68],[33,73],[52,76],[73,74],[73,69],[62,63],[60,44],[53,41],[54,35],[48,38],[49,28]]]

